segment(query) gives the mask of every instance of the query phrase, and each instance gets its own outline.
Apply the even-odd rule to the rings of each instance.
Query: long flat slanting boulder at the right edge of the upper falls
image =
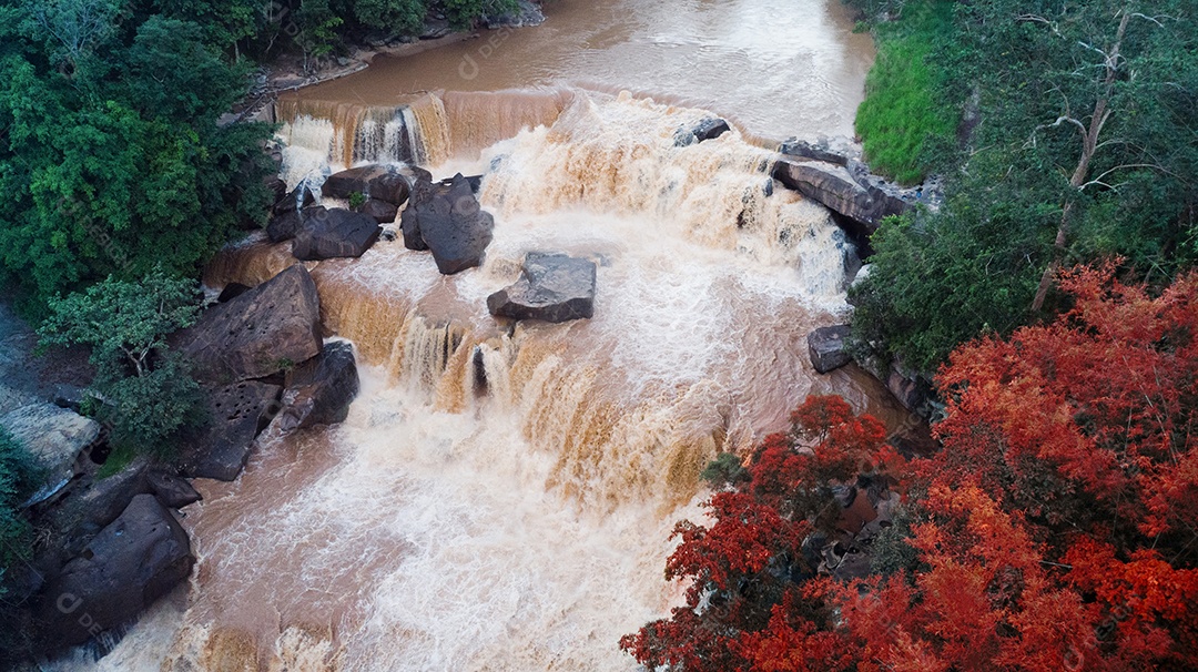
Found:
[[[782,158],[774,178],[804,196],[860,223],[866,232],[877,230],[882,218],[903,213],[908,204],[871,184],[860,184],[843,167],[821,161]]]

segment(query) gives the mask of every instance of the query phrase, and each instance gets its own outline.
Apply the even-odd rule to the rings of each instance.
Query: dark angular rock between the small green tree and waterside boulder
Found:
[[[282,393],[282,387],[258,381],[212,392],[208,423],[183,440],[183,476],[235,480],[249,460],[254,438],[278,412]]]

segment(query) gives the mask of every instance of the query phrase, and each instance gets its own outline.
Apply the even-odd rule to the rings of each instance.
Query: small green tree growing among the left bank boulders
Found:
[[[195,322],[196,292],[194,281],[155,270],[50,302],[42,344],[91,347],[98,401],[89,411],[111,424],[116,443],[169,453],[175,432],[201,419],[199,385],[167,347],[168,334]]]

